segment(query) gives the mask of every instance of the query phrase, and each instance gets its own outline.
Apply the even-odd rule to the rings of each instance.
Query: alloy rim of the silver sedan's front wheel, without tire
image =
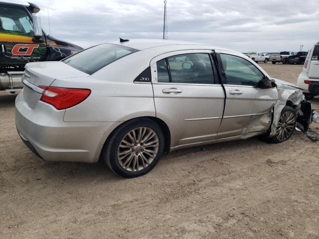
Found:
[[[293,133],[296,123],[296,117],[292,112],[285,112],[278,121],[277,139],[285,141]]]

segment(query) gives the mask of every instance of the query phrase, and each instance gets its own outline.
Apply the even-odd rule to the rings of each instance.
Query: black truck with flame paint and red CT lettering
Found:
[[[23,88],[24,65],[36,61],[59,61],[83,48],[47,35],[33,4],[0,2],[0,90]]]

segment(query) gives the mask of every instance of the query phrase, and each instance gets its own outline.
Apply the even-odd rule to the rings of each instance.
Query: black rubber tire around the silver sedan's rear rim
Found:
[[[158,136],[159,148],[157,155],[148,166],[146,166],[140,171],[132,172],[122,168],[120,163],[118,162],[118,148],[122,139],[127,135],[127,133],[138,127],[147,127],[152,129]],[[163,149],[164,135],[162,133],[160,126],[151,119],[133,119],[123,123],[112,133],[111,137],[107,140],[105,146],[102,149],[102,157],[106,165],[116,174],[126,178],[134,178],[142,176],[151,171],[159,162],[160,156],[163,153]],[[140,160],[139,157],[137,160]]]

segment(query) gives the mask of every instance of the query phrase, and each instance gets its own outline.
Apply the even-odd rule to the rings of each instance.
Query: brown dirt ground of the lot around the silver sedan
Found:
[[[260,65],[292,83],[302,70]],[[1,239],[319,238],[319,142],[303,133],[179,150],[124,179],[34,156],[15,130],[15,97],[0,93]]]

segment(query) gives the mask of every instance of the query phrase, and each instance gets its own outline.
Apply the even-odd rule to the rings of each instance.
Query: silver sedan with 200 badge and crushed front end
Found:
[[[22,80],[16,128],[33,152],[102,160],[124,177],[180,148],[256,135],[283,142],[312,116],[298,87],[239,52],[194,43],[121,39],[28,63]]]

